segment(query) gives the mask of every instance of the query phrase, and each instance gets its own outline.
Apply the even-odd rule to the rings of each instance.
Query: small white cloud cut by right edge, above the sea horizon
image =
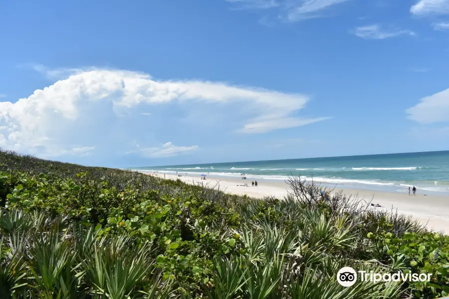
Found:
[[[421,124],[449,122],[449,89],[422,98],[406,110],[408,118]]]

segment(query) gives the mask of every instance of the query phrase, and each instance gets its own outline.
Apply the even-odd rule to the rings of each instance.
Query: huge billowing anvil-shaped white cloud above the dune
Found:
[[[72,69],[66,72],[61,69],[53,72],[43,69],[44,73],[47,71],[52,76],[75,73],[42,90],[35,90],[27,98],[14,103],[0,102],[0,147],[45,156],[86,154],[94,147],[95,151],[99,150],[100,142],[114,144],[120,136],[108,134],[118,134],[117,130],[122,138],[144,130],[134,123],[114,131],[112,127],[118,117],[129,115],[134,108],[137,115],[132,115],[132,119],[136,119],[139,115],[149,115],[142,112],[147,110],[145,107],[153,109],[167,104],[191,109],[198,106],[209,109],[208,115],[216,112],[217,105],[238,105],[238,112],[247,115],[239,120],[243,122],[238,130],[240,133],[266,133],[326,119],[293,116],[309,99],[302,94],[221,82],[156,81],[150,75],[125,70]],[[147,139],[147,142],[143,148],[151,148],[156,140]],[[118,151],[120,147],[123,145],[115,143],[113,148]],[[163,152],[170,150],[178,148]]]

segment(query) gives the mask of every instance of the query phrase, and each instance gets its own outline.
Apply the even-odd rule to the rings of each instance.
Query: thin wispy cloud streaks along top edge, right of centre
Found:
[[[278,19],[300,21],[324,16],[323,12],[331,6],[349,0],[226,0],[239,9],[275,9]],[[263,22],[262,22],[263,23]]]

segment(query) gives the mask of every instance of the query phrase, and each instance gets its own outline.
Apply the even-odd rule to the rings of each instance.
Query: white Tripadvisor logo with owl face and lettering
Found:
[[[379,282],[400,282],[400,281],[407,281],[407,282],[428,282],[430,281],[430,278],[432,276],[431,273],[425,274],[425,273],[402,273],[401,271],[398,271],[397,273],[374,273],[373,271],[367,272],[367,271],[358,271],[360,276],[360,281],[366,282],[370,281],[373,283],[379,283]],[[337,282],[342,285],[343,287],[351,287],[353,286],[357,281],[357,272],[352,269],[351,267],[343,267],[337,272]]]

